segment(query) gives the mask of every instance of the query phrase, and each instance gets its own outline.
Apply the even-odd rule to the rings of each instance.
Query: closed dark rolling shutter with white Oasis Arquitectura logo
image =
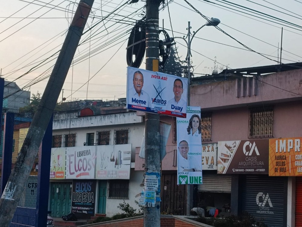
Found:
[[[263,219],[269,227],[283,227],[284,215],[286,216],[284,179],[284,177],[246,176],[242,190],[242,211],[249,212],[258,220]],[[257,195],[259,204],[256,202]]]

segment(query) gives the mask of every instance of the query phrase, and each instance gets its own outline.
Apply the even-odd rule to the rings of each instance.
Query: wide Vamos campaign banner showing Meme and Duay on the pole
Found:
[[[186,117],[188,79],[127,67],[127,109]]]

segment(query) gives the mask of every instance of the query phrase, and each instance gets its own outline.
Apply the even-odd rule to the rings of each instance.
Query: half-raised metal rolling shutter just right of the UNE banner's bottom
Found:
[[[231,193],[231,176],[218,174],[202,175],[202,184],[198,184],[199,192],[227,192]]]

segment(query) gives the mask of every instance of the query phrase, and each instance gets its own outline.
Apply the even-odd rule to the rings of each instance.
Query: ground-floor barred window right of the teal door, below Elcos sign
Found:
[[[129,180],[108,180],[108,199],[129,199]]]

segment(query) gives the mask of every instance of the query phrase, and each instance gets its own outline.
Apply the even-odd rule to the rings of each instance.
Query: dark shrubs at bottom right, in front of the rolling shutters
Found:
[[[244,212],[240,216],[230,215],[224,219],[198,218],[197,221],[214,227],[267,227],[262,220],[256,220],[247,212]]]

